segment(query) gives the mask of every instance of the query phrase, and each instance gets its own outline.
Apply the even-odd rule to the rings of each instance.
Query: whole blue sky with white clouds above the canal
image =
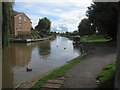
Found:
[[[92,0],[24,0],[15,2],[14,10],[30,17],[33,28],[39,19],[47,17],[52,22],[51,30],[71,32],[77,30],[81,19],[86,17],[87,7],[91,3]]]

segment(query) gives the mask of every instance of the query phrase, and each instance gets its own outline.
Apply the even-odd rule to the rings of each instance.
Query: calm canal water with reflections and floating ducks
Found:
[[[53,41],[12,43],[3,50],[3,88],[13,88],[80,55],[80,48],[61,36]],[[27,67],[32,71],[27,72]]]

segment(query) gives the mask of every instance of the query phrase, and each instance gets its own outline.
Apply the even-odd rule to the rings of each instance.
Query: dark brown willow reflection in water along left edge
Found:
[[[10,48],[7,50],[11,50]],[[3,88],[12,88],[13,85],[13,71],[12,71],[12,63],[11,63],[12,54],[5,53],[3,50],[2,53],[2,87]],[[9,58],[9,59],[8,59]]]

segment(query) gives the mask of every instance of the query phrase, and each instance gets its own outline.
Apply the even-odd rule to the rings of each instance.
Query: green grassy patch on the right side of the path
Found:
[[[114,88],[116,62],[105,66],[97,76],[100,88]]]

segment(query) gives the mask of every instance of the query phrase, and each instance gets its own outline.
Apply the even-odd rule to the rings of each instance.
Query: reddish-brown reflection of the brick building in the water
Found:
[[[31,60],[32,48],[27,44],[11,45],[12,64],[14,66],[24,67]]]

